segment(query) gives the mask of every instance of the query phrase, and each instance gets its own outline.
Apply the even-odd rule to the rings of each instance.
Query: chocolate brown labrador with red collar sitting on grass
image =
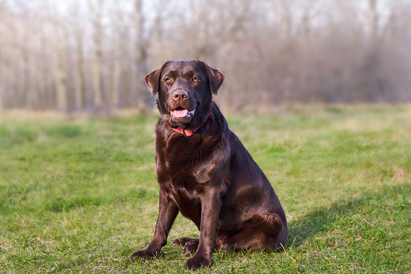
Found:
[[[131,259],[159,254],[179,212],[200,230],[199,238],[173,241],[195,251],[186,268],[208,266],[214,249],[283,249],[280,201],[213,101],[224,75],[200,60],[167,61],[145,80],[158,93],[159,213],[150,244]]]

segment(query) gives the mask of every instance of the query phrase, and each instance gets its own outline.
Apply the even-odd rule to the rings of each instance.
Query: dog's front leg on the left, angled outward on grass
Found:
[[[167,243],[168,232],[178,213],[179,209],[177,205],[174,204],[160,187],[158,219],[153,239],[146,249],[134,252],[133,255],[131,255],[131,260],[134,260],[135,257],[149,259],[157,256],[161,248]]]

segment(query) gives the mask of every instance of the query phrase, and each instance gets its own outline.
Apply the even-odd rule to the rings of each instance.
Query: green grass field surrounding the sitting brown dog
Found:
[[[0,118],[0,272],[181,273],[157,218],[157,116]],[[281,253],[215,252],[205,273],[411,272],[411,106],[227,115],[286,211]],[[169,239],[198,231],[179,216]]]

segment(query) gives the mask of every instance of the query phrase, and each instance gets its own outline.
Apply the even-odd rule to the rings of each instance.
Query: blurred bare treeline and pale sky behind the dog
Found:
[[[168,59],[226,75],[227,108],[411,99],[407,0],[0,0],[0,110],[149,109]]]

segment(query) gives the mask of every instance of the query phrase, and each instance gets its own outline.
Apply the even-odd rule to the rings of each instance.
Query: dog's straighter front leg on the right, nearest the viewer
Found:
[[[207,267],[216,245],[216,230],[221,208],[220,194],[212,189],[204,191],[201,197],[201,223],[199,244],[194,256],[187,263],[187,269]]]

